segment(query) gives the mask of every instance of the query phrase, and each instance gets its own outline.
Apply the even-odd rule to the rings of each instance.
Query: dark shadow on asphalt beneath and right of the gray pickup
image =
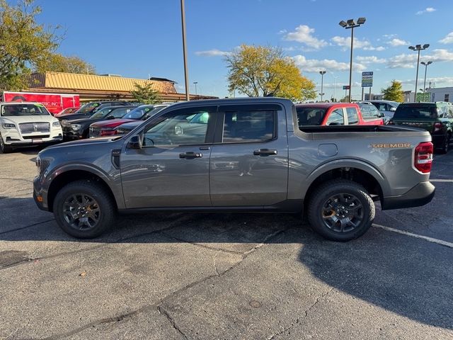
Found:
[[[3,198],[0,203],[4,200],[15,199]],[[38,208],[31,208],[33,200],[27,200],[16,203],[28,206],[26,214],[33,216]],[[417,322],[453,328],[453,251],[420,239],[372,227],[355,241],[328,242],[297,215],[149,213],[120,215],[103,237],[83,241],[64,234],[53,215],[48,217],[38,223],[31,218],[16,231],[1,228],[0,242],[191,242],[237,253],[260,243],[301,244],[298,261],[331,287]],[[285,261],[292,259],[280,265]]]

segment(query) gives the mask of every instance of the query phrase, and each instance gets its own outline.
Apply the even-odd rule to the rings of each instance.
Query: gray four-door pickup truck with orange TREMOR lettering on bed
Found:
[[[265,211],[306,212],[336,241],[367,231],[374,200],[383,210],[432,200],[429,132],[298,122],[282,98],[176,103],[128,135],[42,150],[33,196],[79,238],[118,211]]]

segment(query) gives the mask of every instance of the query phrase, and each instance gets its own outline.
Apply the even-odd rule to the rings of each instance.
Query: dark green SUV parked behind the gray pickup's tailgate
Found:
[[[402,103],[389,124],[428,130],[435,149],[446,153],[452,138],[453,106],[446,102]]]

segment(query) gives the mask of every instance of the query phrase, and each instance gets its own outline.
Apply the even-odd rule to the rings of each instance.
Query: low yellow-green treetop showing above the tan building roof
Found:
[[[43,63],[37,71],[96,74],[95,67],[81,58],[76,56],[65,57],[57,53],[50,55],[47,62]]]

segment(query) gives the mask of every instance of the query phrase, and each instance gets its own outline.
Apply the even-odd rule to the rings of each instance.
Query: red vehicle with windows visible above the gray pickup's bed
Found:
[[[297,104],[299,126],[304,125],[383,125],[382,113],[367,103]]]

